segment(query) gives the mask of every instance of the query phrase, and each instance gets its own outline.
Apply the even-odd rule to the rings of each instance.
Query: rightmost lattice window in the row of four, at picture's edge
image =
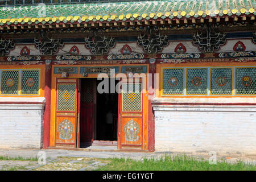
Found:
[[[256,94],[256,68],[236,68],[236,94]]]

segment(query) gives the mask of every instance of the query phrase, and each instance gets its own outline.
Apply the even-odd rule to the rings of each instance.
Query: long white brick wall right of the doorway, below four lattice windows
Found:
[[[255,105],[153,107],[156,151],[256,154]]]

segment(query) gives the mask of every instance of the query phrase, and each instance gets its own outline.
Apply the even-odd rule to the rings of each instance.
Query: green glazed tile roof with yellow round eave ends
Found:
[[[158,18],[157,13],[170,12],[171,14],[176,11],[178,13],[177,18],[182,16],[190,17],[189,13],[193,11],[194,17],[205,17],[206,12],[210,11],[209,16],[216,16],[213,12],[218,10],[218,15],[228,14],[233,15],[232,10],[237,10],[237,15],[242,13],[241,9],[245,9],[242,14],[255,14],[256,3],[255,0],[166,0],[166,1],[134,1],[134,2],[108,2],[108,3],[84,3],[84,4],[65,4],[65,5],[46,5],[46,14],[40,11],[38,6],[5,6],[0,7],[0,19],[6,19],[5,23],[9,19],[19,18],[53,18],[60,16],[93,16],[93,20],[97,15],[117,15],[115,20],[119,20],[119,15],[127,14],[139,14],[140,17],[143,13],[147,14],[147,17],[154,13],[154,19]],[[228,10],[228,13],[224,13],[223,10]],[[181,14],[181,12],[185,12]],[[203,14],[200,12],[203,11]],[[223,14],[224,13],[224,14]],[[146,17],[146,18],[147,18]],[[171,18],[171,16],[170,16]],[[72,18],[71,18],[72,19]],[[141,19],[141,18],[138,18]],[[15,21],[14,20],[14,21]],[[112,20],[112,19],[110,19]],[[130,18],[130,20],[132,20]],[[101,18],[102,21],[102,18]],[[41,21],[42,22],[42,21]]]

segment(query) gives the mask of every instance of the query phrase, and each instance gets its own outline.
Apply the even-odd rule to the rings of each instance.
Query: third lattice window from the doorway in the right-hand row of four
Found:
[[[210,69],[210,94],[232,94],[232,68]]]

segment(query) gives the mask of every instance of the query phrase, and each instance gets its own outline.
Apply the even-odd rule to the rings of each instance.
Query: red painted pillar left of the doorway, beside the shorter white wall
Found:
[[[44,97],[46,105],[44,107],[44,126],[43,126],[43,148],[49,147],[50,122],[51,122],[51,84],[52,84],[52,65],[51,60],[46,60]]]

